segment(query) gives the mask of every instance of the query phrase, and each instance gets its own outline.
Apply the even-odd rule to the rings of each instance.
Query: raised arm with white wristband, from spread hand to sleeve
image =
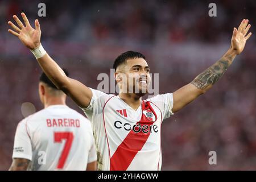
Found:
[[[14,15],[13,18],[18,24],[18,27],[9,21],[8,24],[13,28],[13,30],[9,29],[8,31],[17,36],[24,46],[29,48],[31,51],[38,51],[38,55],[42,55],[37,58],[38,63],[43,69],[43,72],[46,73],[48,78],[58,89],[63,90],[63,92],[70,96],[80,107],[87,107],[92,98],[92,91],[81,82],[67,77],[59,65],[57,65],[57,63],[46,52],[42,51],[42,49],[38,49],[41,45],[41,30],[38,19],[35,20],[34,29],[28,22],[26,15],[24,13],[21,15],[25,26],[19,18]]]

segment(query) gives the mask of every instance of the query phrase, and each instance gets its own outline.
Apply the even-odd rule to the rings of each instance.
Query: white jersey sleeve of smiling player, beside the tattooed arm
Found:
[[[154,103],[162,111],[163,119],[169,118],[172,113],[172,107],[174,106],[174,97],[172,93],[159,94],[155,97],[148,98],[147,101]]]

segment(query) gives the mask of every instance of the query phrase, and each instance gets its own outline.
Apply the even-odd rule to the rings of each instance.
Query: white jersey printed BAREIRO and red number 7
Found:
[[[88,119],[66,105],[51,105],[19,122],[13,158],[28,170],[85,170],[97,159]]]

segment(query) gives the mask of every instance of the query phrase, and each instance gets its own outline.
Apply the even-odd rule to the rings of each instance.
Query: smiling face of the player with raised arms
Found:
[[[127,59],[115,72],[122,93],[135,93],[144,96],[151,82],[150,68],[143,58]]]

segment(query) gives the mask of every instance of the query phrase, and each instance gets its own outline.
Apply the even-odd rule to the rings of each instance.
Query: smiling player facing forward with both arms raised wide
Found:
[[[49,79],[67,93],[92,122],[99,170],[160,170],[163,119],[207,92],[243,51],[251,36],[247,34],[249,20],[243,19],[238,29],[234,28],[230,48],[220,60],[174,93],[142,100],[146,94],[143,91],[151,81],[150,68],[142,53],[128,51],[115,59],[114,76],[120,92],[118,96],[109,95],[66,76],[40,43],[38,20],[34,29],[26,15],[21,15],[24,24],[14,15],[18,26],[9,21],[13,28],[9,32],[34,53]]]

